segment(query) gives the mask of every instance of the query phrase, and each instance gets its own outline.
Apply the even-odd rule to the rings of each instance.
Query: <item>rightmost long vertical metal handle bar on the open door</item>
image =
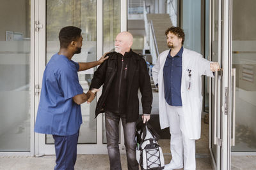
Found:
[[[236,139],[236,68],[232,69],[232,76],[233,76],[233,138],[231,138],[231,146],[235,146],[235,139]]]

